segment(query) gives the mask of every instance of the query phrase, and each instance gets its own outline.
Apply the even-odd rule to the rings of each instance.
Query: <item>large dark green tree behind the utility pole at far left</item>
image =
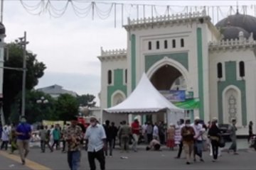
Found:
[[[23,50],[20,45],[11,42],[7,45],[9,48],[9,60],[4,61],[4,67],[23,67]],[[6,58],[6,57],[5,57]],[[38,79],[43,77],[46,65],[36,60],[36,55],[27,52],[27,73],[26,73],[26,90],[33,89],[38,84]],[[4,69],[4,115],[9,118],[11,113],[11,105],[14,104],[16,96],[22,89],[21,71]]]

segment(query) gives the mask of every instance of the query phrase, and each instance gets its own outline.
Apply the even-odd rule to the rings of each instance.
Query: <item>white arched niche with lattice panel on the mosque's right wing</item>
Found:
[[[241,91],[237,86],[230,85],[223,90],[223,123],[230,123],[232,118],[242,126]]]

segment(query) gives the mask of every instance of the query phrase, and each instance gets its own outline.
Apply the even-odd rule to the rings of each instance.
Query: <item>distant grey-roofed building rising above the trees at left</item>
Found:
[[[68,91],[63,89],[63,86],[59,86],[57,84],[54,84],[53,86],[46,86],[43,88],[37,89],[37,91],[42,91],[45,94],[50,94],[53,98],[58,98],[60,94],[70,94],[74,97],[78,96],[74,91]]]

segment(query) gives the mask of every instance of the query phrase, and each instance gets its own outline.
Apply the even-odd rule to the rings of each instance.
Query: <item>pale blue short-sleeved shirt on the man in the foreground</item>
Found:
[[[85,140],[88,140],[87,152],[98,152],[103,148],[103,139],[106,138],[105,130],[102,125],[97,124],[95,127],[90,125],[85,132]]]

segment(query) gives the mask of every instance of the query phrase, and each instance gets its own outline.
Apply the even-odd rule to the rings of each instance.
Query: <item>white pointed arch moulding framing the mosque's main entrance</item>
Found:
[[[187,88],[190,89],[191,84],[188,79],[188,71],[183,65],[175,60],[170,59],[169,57],[164,57],[163,59],[159,60],[155,64],[153,64],[149,70],[146,72],[146,75],[151,79],[154,73],[160,69],[161,67],[165,66],[166,64],[170,65],[171,67],[176,68],[181,74],[183,75],[184,79],[186,80]]]

